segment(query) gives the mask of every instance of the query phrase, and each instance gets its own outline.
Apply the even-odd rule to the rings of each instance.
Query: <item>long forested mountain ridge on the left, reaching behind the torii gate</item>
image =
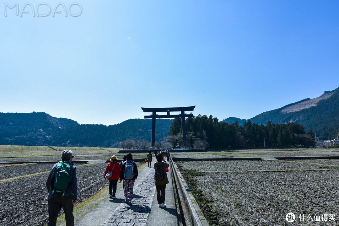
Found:
[[[171,119],[156,119],[156,140],[168,136]],[[83,124],[44,112],[0,113],[0,144],[117,147],[126,139],[151,140],[152,120],[129,119],[116,125]]]

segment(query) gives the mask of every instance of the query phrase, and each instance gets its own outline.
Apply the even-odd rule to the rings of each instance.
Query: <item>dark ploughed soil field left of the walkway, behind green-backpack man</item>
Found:
[[[138,166],[141,164],[137,163]],[[106,165],[106,163],[97,163],[77,167],[78,203],[108,185],[107,180],[103,178]],[[36,164],[36,166],[41,171],[48,171],[53,164]],[[3,167],[0,170],[3,170],[1,174],[9,175],[10,171],[22,172],[22,166]],[[0,183],[0,226],[47,224],[47,177],[48,173]],[[63,211],[60,215],[62,213]]]

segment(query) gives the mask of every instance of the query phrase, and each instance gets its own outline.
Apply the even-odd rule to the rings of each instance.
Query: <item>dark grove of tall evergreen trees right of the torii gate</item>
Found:
[[[219,122],[218,118],[206,115],[186,119],[188,147],[210,147],[213,150],[240,148],[309,148],[315,145],[312,131],[307,133],[297,123],[271,122],[258,125],[248,120],[243,126],[238,122]],[[174,119],[168,142],[172,147],[182,145],[180,120]]]

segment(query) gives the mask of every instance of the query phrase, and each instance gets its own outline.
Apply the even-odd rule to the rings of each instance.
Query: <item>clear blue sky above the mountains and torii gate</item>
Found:
[[[248,119],[339,86],[339,1],[51,0],[46,17],[26,2],[37,14],[40,1],[0,3],[0,112],[112,125],[196,105]]]

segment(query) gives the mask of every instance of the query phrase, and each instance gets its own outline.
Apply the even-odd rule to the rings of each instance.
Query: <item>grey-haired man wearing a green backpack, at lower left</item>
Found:
[[[49,173],[46,186],[48,189],[48,226],[56,226],[58,214],[63,208],[66,226],[74,226],[73,206],[77,204],[78,182],[77,168],[72,163],[71,150],[61,153],[61,162],[56,163]]]

